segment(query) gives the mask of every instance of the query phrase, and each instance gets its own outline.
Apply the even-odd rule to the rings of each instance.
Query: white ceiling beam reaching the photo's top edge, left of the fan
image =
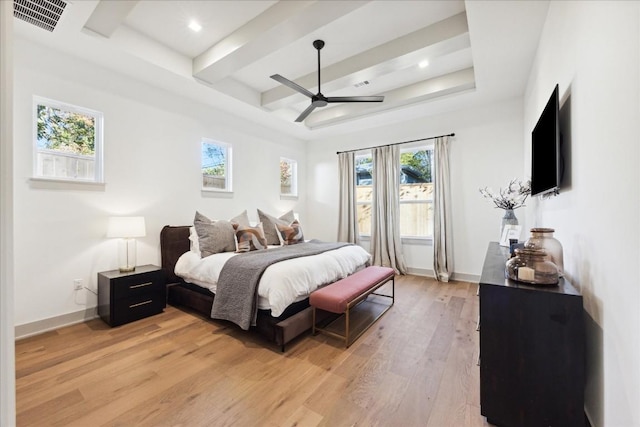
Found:
[[[368,1],[279,1],[193,59],[194,77],[215,83]]]

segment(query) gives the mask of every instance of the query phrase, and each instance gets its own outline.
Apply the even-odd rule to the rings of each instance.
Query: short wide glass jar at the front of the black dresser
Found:
[[[507,261],[505,274],[509,279],[533,285],[556,285],[558,267],[547,259],[544,249],[518,248]]]

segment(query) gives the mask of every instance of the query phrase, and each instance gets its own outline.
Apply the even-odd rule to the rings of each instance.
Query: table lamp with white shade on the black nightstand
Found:
[[[146,235],[144,217],[112,216],[109,217],[107,237],[119,237],[118,268],[122,273],[136,269],[136,237]]]

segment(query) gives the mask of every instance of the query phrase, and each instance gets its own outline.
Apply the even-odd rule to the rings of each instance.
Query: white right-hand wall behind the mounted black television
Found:
[[[568,182],[531,205],[550,226],[587,312],[586,411],[594,427],[640,425],[640,3],[551,2],[524,104],[530,132],[556,83]]]

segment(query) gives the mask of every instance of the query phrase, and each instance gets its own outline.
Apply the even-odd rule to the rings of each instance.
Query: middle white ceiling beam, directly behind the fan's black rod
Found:
[[[323,93],[342,89],[362,80],[405,68],[417,63],[417,58],[442,56],[470,47],[466,13],[461,12],[428,27],[384,43],[322,69]],[[287,77],[287,76],[285,76]],[[316,72],[294,80],[312,90],[318,86]],[[262,106],[270,110],[296,102],[300,96],[286,86],[277,86],[262,93]]]

